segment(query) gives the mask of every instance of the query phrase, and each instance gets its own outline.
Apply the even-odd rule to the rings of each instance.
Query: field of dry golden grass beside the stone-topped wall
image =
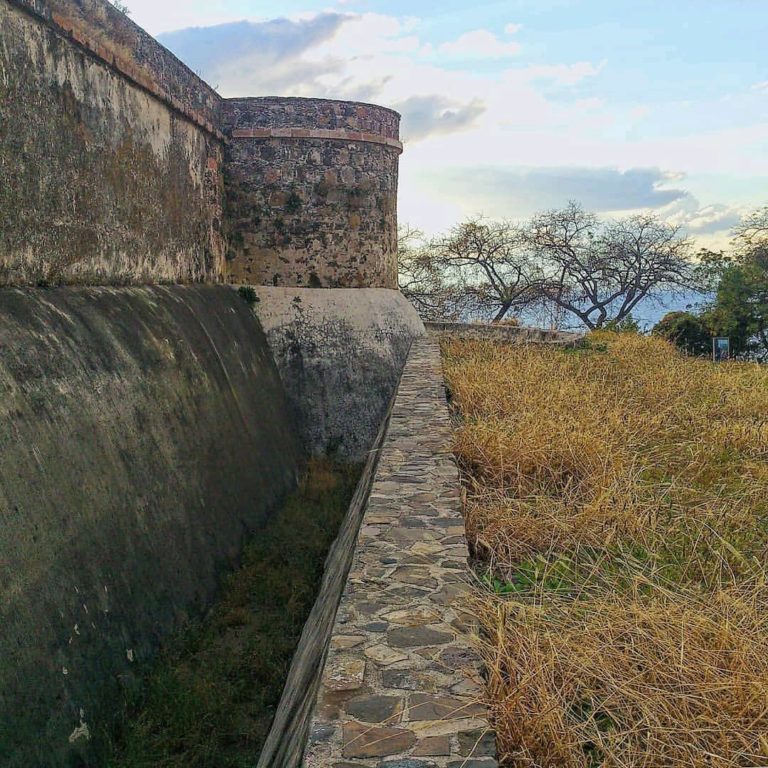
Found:
[[[768,765],[768,370],[447,342],[508,766]]]

